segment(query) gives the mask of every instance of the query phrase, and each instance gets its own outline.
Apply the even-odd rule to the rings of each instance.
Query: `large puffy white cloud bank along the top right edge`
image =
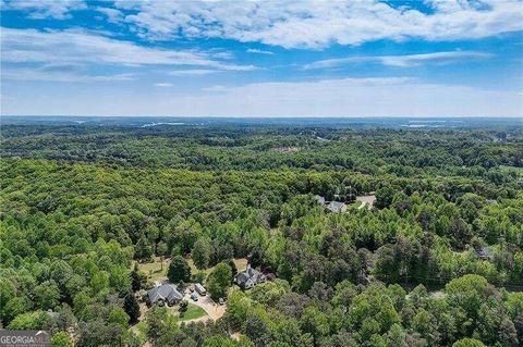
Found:
[[[393,3],[393,2],[392,2]],[[151,39],[219,37],[284,48],[379,39],[476,39],[523,29],[520,0],[431,0],[431,13],[363,1],[115,1]],[[129,12],[127,12],[129,13]]]

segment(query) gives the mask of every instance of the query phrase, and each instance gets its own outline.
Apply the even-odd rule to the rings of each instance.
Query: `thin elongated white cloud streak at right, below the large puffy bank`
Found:
[[[303,66],[304,70],[328,69],[352,63],[378,62],[388,66],[409,67],[418,66],[425,63],[449,64],[460,61],[471,61],[478,59],[489,59],[494,54],[477,51],[448,51],[434,52],[425,54],[406,54],[406,55],[364,55],[348,57],[340,59],[318,60]]]

